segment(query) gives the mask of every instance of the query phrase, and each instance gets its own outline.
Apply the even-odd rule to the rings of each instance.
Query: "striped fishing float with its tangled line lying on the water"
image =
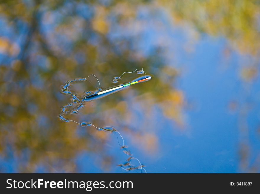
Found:
[[[70,81],[66,81],[65,84],[62,86],[61,88],[61,93],[63,94],[66,94],[66,95],[70,95],[71,96],[71,103],[61,107],[61,114],[59,115],[59,119],[61,121],[64,121],[66,123],[72,121],[74,123],[77,123],[78,125],[82,126],[82,127],[90,127],[90,126],[93,126],[95,127],[96,129],[98,129],[99,131],[105,131],[105,132],[109,132],[109,133],[115,133],[116,134],[116,137],[117,137],[117,141],[118,141],[118,144],[121,146],[121,149],[123,149],[123,152],[126,154],[126,155],[129,155],[130,157],[127,159],[127,163],[125,164],[119,164],[118,166],[121,167],[121,169],[124,169],[125,171],[129,172],[129,171],[132,171],[132,170],[139,170],[141,173],[144,171],[145,173],[146,170],[144,169],[144,165],[141,164],[141,162],[139,161],[139,159],[137,158],[134,158],[132,157],[133,155],[131,154],[131,152],[129,150],[126,149],[127,146],[125,146],[125,142],[124,142],[124,138],[123,136],[121,136],[121,134],[113,127],[110,127],[110,126],[106,126],[106,127],[97,127],[95,125],[93,125],[91,122],[77,122],[77,121],[74,121],[74,120],[69,120],[69,119],[66,119],[64,118],[63,115],[65,114],[77,114],[79,112],[80,109],[82,109],[84,106],[85,106],[85,102],[89,102],[89,101],[92,101],[92,100],[97,100],[99,98],[102,98],[102,97],[105,97],[107,95],[110,95],[110,94],[113,94],[115,92],[119,92],[121,91],[122,89],[126,89],[128,88],[129,86],[131,85],[134,85],[134,84],[138,84],[140,82],[144,82],[144,81],[149,81],[150,79],[152,79],[151,76],[147,76],[146,73],[142,70],[135,70],[135,71],[131,71],[131,72],[124,72],[120,77],[114,77],[112,82],[113,83],[117,83],[118,82],[118,79],[121,79],[121,77],[125,74],[125,73],[134,73],[134,72],[137,72],[137,74],[145,74],[145,76],[141,76],[141,77],[138,77],[137,79],[134,79],[133,81],[129,82],[129,83],[126,83],[126,84],[121,84],[119,86],[116,86],[116,87],[112,87],[112,88],[109,88],[109,89],[105,89],[105,90],[102,90],[101,89],[101,86],[100,86],[100,81],[98,80],[98,78],[94,75],[94,74],[91,74],[89,76],[87,76],[86,78],[79,78],[79,79],[73,79],[73,80],[70,80]],[[84,93],[87,94],[85,95],[84,97],[82,97],[81,100],[79,100],[79,98],[77,97],[77,94],[76,93],[73,93],[73,92],[70,92],[69,89],[72,85],[72,83],[75,83],[75,82],[82,82],[82,81],[86,81],[88,77],[90,76],[95,76],[95,78],[97,79],[98,81],[98,84],[99,84],[99,88],[97,88],[97,90],[95,92],[92,92],[92,91],[85,91]],[[89,81],[89,80],[87,80]],[[73,105],[77,105],[76,108],[72,108],[71,110],[69,110],[69,107],[72,107]],[[119,143],[119,139],[118,139],[118,136],[117,136],[117,133],[120,135],[120,137],[122,138],[122,141],[123,141],[123,145],[121,145]],[[133,159],[136,159],[139,163],[139,166],[135,167],[133,165],[131,165],[131,162]],[[126,167],[126,168],[124,168]]]

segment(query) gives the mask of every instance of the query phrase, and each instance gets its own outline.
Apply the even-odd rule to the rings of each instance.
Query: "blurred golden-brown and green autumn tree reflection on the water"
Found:
[[[59,88],[65,80],[86,74],[111,83],[111,76],[143,68],[153,75],[153,82],[88,103],[80,118],[89,118],[98,126],[116,126],[147,153],[158,147],[157,126],[145,127],[160,115],[151,110],[158,108],[164,118],[185,128],[183,108],[188,104],[183,92],[175,88],[179,70],[168,64],[167,58],[174,55],[165,56],[167,41],[161,37],[148,49],[141,41],[149,35],[146,29],[151,23],[157,29],[172,25],[161,22],[165,15],[172,16],[174,25],[192,26],[187,52],[200,34],[224,36],[233,48],[251,56],[251,64],[241,71],[242,80],[254,82],[257,76],[257,1],[2,1],[0,10],[0,153],[2,164],[12,163],[12,170],[3,165],[1,172],[81,172],[74,159],[83,151],[98,155],[98,165],[105,172],[117,164],[106,151],[107,133],[82,132],[77,125],[57,118],[67,100]],[[224,51],[228,57],[229,50]],[[129,80],[131,76],[116,81]],[[78,84],[74,90],[91,87],[97,85]],[[257,172],[259,162],[255,159],[249,164],[250,141],[244,138],[247,104],[245,101],[241,108],[238,126],[241,169]],[[141,114],[134,106],[139,106]],[[136,114],[142,121],[135,120],[138,127],[133,124]]]

